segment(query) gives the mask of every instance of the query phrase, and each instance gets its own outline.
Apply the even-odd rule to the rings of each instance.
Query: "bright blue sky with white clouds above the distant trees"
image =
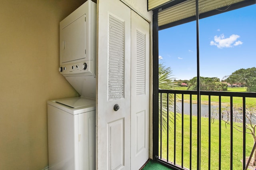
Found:
[[[256,5],[199,20],[200,76],[220,80],[256,67]],[[159,63],[172,77],[196,77],[196,22],[159,31]]]

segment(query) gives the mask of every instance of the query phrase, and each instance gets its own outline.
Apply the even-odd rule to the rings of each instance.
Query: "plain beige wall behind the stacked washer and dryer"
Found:
[[[58,72],[59,22],[86,0],[0,0],[0,169],[48,165],[49,99],[78,94]]]

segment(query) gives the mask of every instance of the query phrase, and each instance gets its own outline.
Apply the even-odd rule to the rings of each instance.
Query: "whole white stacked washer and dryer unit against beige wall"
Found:
[[[96,4],[60,22],[60,73],[81,95],[47,101],[49,170],[95,170]]]

